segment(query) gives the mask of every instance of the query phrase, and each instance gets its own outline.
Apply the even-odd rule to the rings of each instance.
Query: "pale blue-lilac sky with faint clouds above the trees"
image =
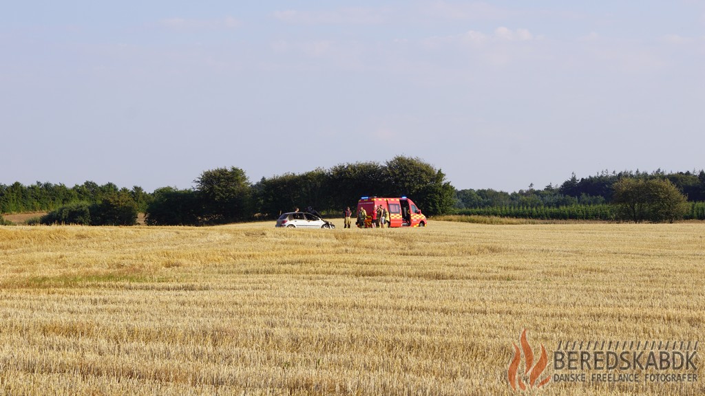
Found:
[[[705,167],[705,0],[7,1],[0,183]]]

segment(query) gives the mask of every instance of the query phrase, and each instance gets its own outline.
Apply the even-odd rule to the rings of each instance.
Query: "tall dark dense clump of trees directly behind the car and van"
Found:
[[[147,224],[224,224],[251,218],[273,219],[295,208],[312,207],[339,216],[362,196],[413,197],[429,216],[448,213],[455,187],[439,169],[418,158],[396,156],[386,163],[344,163],[330,169],[285,173],[251,183],[240,168],[205,171],[196,187],[154,191]]]

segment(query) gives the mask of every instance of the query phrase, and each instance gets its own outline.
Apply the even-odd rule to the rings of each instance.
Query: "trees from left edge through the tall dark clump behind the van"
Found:
[[[16,182],[0,185],[0,213],[50,211],[40,223],[129,225],[133,221],[115,216],[132,213],[133,209],[123,207],[128,205],[144,212],[150,225],[214,225],[276,218],[307,206],[338,216],[364,195],[407,195],[429,216],[447,213],[455,203],[455,187],[441,170],[406,156],[386,163],[344,163],[327,170],[285,173],[255,183],[240,168],[217,168],[204,171],[194,183],[190,189],[161,187],[148,194],[137,186],[118,189],[112,183],[85,182],[68,188],[39,182],[25,187]]]

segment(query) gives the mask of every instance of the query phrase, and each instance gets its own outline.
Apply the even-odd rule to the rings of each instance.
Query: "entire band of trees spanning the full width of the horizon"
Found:
[[[147,193],[87,181],[66,187],[49,182],[0,184],[0,213],[49,211],[41,223],[130,225],[137,212],[150,225],[211,225],[276,218],[311,206],[338,216],[361,196],[412,197],[429,216],[479,214],[522,218],[674,221],[705,219],[705,171],[608,172],[558,186],[503,192],[456,190],[439,169],[419,158],[385,163],[343,163],[329,169],[284,173],[250,182],[240,168],[204,171],[195,187],[161,187]],[[134,216],[134,218],[133,218]]]

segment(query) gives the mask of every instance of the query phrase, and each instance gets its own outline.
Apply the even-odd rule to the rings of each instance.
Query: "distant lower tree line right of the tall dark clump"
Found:
[[[459,190],[455,213],[556,220],[705,220],[705,171],[608,172],[542,190]]]

